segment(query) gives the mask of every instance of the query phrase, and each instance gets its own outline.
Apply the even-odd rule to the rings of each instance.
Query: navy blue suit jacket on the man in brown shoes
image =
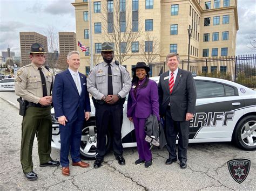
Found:
[[[52,89],[55,117],[64,115],[68,121],[71,121],[79,107],[78,120],[82,120],[85,117],[84,111],[91,111],[89,93],[86,88],[86,76],[79,73],[79,77],[82,87],[80,96],[68,69],[56,75]]]

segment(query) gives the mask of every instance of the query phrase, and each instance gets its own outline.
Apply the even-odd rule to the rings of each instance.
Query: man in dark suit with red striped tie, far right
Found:
[[[178,159],[180,168],[187,167],[187,146],[190,119],[196,108],[196,86],[191,72],[178,68],[179,55],[166,56],[169,71],[160,75],[158,83],[159,112],[164,116],[169,158],[165,164],[177,161],[176,137],[178,140]]]

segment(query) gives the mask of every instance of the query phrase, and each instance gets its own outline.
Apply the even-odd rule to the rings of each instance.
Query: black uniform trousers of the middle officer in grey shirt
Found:
[[[96,159],[103,159],[106,154],[106,133],[108,127],[112,133],[114,155],[123,154],[122,145],[122,124],[123,124],[123,104],[95,104],[96,126],[97,126],[97,154]]]

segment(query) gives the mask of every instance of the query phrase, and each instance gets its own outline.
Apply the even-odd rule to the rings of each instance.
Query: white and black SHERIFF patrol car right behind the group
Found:
[[[151,77],[158,83],[159,76]],[[231,142],[244,150],[256,149],[256,91],[238,83],[212,77],[194,77],[197,88],[196,114],[190,122],[189,143]],[[84,123],[80,154],[92,159],[96,154],[97,128],[95,107],[91,101],[91,117]],[[123,147],[137,146],[133,123],[126,117],[124,104],[122,126]],[[52,147],[60,149],[58,121],[52,109]],[[110,133],[106,136],[110,147]],[[177,140],[178,143],[178,140]]]

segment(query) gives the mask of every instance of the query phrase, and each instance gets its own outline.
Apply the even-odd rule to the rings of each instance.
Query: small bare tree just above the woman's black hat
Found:
[[[150,32],[144,33],[145,38],[139,44],[139,58],[149,65],[157,60],[160,54],[159,41]]]

